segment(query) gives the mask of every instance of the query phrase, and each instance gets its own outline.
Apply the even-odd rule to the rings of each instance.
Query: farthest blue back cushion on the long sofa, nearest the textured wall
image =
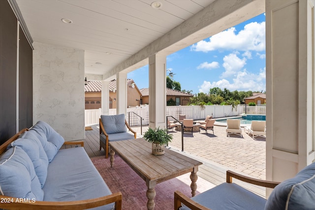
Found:
[[[51,162],[64,143],[63,136],[43,121],[38,121],[30,131],[38,137],[47,154],[48,161]]]

